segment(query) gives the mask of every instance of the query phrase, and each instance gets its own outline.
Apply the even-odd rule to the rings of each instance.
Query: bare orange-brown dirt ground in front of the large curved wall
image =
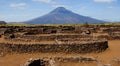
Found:
[[[109,48],[101,53],[87,54],[65,54],[65,53],[34,53],[34,54],[12,54],[0,57],[0,66],[21,66],[30,58],[55,57],[55,56],[93,56],[102,60],[103,64],[110,63],[113,59],[120,58],[120,40],[109,41]],[[97,66],[96,63],[68,63],[62,66]]]

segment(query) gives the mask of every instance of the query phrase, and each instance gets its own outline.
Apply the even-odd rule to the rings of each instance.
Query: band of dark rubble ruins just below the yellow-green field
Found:
[[[93,35],[94,33],[101,34],[99,36]],[[104,35],[106,33],[106,35]],[[25,38],[28,36],[40,36],[40,35],[49,35],[51,37],[53,35],[69,35],[72,34],[77,35],[88,35],[91,37],[97,37],[100,39],[105,38],[106,40],[119,40],[120,39],[120,27],[119,26],[102,26],[102,27],[82,27],[82,26],[0,26],[0,36],[4,35],[5,39],[11,38]],[[15,37],[11,37],[14,36]],[[86,36],[86,38],[88,38]],[[40,36],[46,37],[46,36]],[[46,37],[46,38],[48,38]],[[32,39],[32,37],[29,37]],[[63,37],[64,38],[64,37]],[[65,37],[67,38],[67,37]],[[71,38],[71,37],[70,37]],[[54,37],[55,39],[55,37]],[[62,38],[60,38],[62,39]],[[45,39],[47,40],[47,39]]]

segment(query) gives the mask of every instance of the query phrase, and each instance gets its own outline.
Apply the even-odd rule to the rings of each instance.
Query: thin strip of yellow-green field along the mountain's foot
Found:
[[[84,26],[86,24],[6,24],[5,26]],[[120,26],[120,23],[88,24],[89,26]]]

